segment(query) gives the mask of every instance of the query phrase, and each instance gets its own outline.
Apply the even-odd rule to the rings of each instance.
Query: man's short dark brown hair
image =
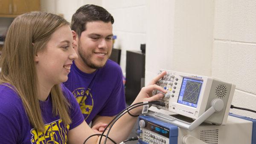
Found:
[[[81,6],[72,16],[71,29],[80,37],[81,33],[86,30],[87,22],[103,21],[105,23],[114,23],[113,16],[101,6],[84,5]]]

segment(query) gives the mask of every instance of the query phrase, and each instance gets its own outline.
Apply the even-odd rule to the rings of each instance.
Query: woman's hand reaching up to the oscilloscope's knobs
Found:
[[[144,101],[157,101],[157,100],[163,98],[164,95],[162,93],[159,93],[157,95],[152,96],[152,92],[153,92],[154,89],[159,90],[163,93],[167,92],[163,87],[158,86],[156,84],[157,81],[159,81],[161,78],[163,78],[164,75],[166,75],[165,71],[163,71],[161,74],[157,75],[157,77],[155,77],[149,83],[148,86],[143,87],[140,90],[140,93],[137,95],[136,99],[134,100],[134,102],[132,104],[136,104],[136,103],[144,102]],[[142,111],[142,106],[132,109],[130,111],[130,113],[133,114],[133,115],[138,115],[138,114],[141,113],[141,111]]]

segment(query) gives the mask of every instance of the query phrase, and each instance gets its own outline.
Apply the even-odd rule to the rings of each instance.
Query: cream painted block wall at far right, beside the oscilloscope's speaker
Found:
[[[212,76],[236,84],[232,104],[256,110],[256,1],[215,0]],[[256,118],[255,113],[230,112]]]

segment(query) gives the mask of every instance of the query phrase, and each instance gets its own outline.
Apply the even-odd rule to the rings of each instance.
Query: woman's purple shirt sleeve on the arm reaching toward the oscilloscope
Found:
[[[62,85],[62,89],[64,91],[64,95],[66,95],[70,102],[70,118],[72,120],[70,130],[72,130],[84,121],[84,116],[82,115],[81,109],[74,95],[64,85]]]

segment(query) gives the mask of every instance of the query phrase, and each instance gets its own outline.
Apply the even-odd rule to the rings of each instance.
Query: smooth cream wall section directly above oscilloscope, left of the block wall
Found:
[[[146,83],[158,69],[211,75],[213,0],[149,0]]]

